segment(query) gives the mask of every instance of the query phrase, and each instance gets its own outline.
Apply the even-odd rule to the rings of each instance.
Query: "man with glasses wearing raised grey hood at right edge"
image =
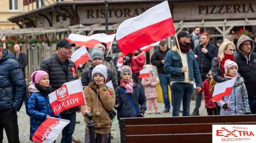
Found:
[[[256,114],[256,53],[252,53],[254,42],[242,35],[237,41],[238,54],[235,56],[238,72],[244,78],[252,114]]]

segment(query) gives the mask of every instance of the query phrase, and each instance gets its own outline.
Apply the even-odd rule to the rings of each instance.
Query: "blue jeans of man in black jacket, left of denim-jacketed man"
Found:
[[[163,92],[164,108],[166,110],[170,110],[170,99],[169,99],[169,91],[168,91],[168,85],[171,87],[170,74],[158,74],[158,78],[159,78],[160,86]],[[173,106],[173,98],[172,98],[172,106]]]

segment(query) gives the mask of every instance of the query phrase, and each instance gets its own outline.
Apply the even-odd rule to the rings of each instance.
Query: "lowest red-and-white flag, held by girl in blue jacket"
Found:
[[[38,143],[53,143],[69,122],[66,119],[49,117],[36,130],[32,140]]]

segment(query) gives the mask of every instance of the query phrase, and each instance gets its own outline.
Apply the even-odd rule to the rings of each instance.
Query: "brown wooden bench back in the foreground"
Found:
[[[211,143],[212,125],[252,125],[256,115],[121,118],[121,143]]]

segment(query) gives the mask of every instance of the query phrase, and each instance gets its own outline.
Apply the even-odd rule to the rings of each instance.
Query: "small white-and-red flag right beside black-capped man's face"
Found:
[[[71,56],[71,61],[73,61],[76,66],[81,65],[90,60],[92,59],[84,45],[77,49]]]

